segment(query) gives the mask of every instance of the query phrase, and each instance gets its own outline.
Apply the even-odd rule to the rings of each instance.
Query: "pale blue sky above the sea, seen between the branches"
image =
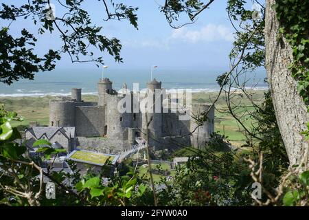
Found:
[[[21,3],[21,1],[4,1],[6,3]],[[108,54],[103,54],[106,65],[113,68],[150,68],[158,65],[165,69],[198,68],[198,69],[228,69],[228,54],[233,42],[233,30],[227,18],[227,1],[218,0],[211,4],[198,17],[196,23],[174,30],[170,28],[159,5],[163,0],[123,0],[126,5],[139,7],[137,12],[139,30],[128,21],[102,21],[106,18],[102,2],[87,0],[83,8],[98,25],[102,25],[106,36],[116,37],[123,44],[122,58],[124,63],[115,63]],[[56,7],[56,16],[62,11]],[[185,14],[183,15],[185,16]],[[187,21],[187,17],[185,20]],[[12,23],[11,32],[17,32],[27,27],[36,32],[32,21],[19,19]],[[50,47],[60,48],[58,32],[39,36],[36,51],[43,54]],[[91,63],[71,64],[69,56],[63,56],[58,62],[58,68],[96,68]]]

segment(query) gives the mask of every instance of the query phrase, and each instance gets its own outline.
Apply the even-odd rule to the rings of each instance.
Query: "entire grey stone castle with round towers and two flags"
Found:
[[[214,132],[214,107],[210,109],[207,122],[202,126],[197,126],[196,120],[191,117],[187,120],[179,120],[179,117],[184,114],[180,111],[171,109],[153,113],[139,111],[141,101],[146,98],[154,100],[157,91],[165,94],[165,89],[161,88],[161,82],[154,79],[147,83],[143,97],[136,98],[133,91],[128,91],[126,85],[122,92],[117,92],[113,89],[111,80],[102,78],[98,83],[98,102],[84,102],[82,89],[76,88],[71,89],[71,98],[52,100],[49,107],[49,126],[74,127],[80,146],[88,145],[95,148],[95,145],[104,145],[104,148],[109,149],[107,153],[132,148],[136,137],[143,137],[146,140],[147,131],[149,144],[155,149],[203,146],[209,140],[210,134]],[[119,111],[119,102],[124,99],[124,96],[129,97],[131,103],[135,103],[130,104],[131,111]],[[162,110],[162,96],[159,96],[159,100],[161,104],[159,108]],[[169,104],[178,102],[171,98],[168,100]],[[153,102],[153,109],[156,109],[156,103]],[[192,104],[190,112],[192,115],[199,115],[209,107],[210,104]],[[122,108],[128,107],[122,105]]]

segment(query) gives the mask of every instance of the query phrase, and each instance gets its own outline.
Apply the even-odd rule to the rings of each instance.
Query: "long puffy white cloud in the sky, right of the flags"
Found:
[[[231,29],[224,25],[208,24],[199,30],[188,30],[186,27],[172,32],[172,39],[181,39],[186,42],[197,43],[200,41],[233,41]]]

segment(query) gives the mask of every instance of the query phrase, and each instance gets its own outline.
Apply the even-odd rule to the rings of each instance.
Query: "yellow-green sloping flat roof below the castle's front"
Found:
[[[113,161],[115,157],[103,155],[102,153],[91,153],[88,151],[76,151],[73,155],[71,155],[72,159],[81,159],[86,162],[93,162],[95,164],[105,164],[106,160],[109,159]]]

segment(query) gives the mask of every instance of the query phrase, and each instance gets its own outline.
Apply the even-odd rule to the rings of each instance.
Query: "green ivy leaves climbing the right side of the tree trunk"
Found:
[[[293,50],[293,61],[289,65],[297,80],[297,89],[309,104],[309,2],[301,0],[279,0],[273,5],[279,21],[279,32]],[[288,9],[288,10],[287,10]]]

